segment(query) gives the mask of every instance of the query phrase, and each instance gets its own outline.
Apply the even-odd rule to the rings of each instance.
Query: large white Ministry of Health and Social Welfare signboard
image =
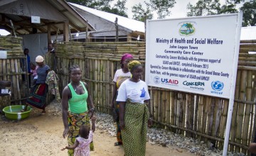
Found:
[[[238,13],[147,21],[146,83],[228,99],[238,26]]]

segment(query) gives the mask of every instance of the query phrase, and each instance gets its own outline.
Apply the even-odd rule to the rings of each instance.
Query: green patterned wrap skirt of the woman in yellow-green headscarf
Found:
[[[124,111],[124,130],[122,141],[125,156],[144,156],[146,152],[146,128],[149,110],[146,104],[127,100]]]

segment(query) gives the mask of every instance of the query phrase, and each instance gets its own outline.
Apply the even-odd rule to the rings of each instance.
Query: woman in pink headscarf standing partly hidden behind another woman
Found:
[[[115,146],[122,145],[122,135],[121,130],[119,127],[119,103],[117,102],[116,106],[114,106],[114,99],[117,97],[118,89],[122,82],[124,82],[126,79],[131,78],[132,74],[129,72],[128,69],[128,62],[132,60],[132,55],[129,53],[126,53],[122,55],[120,64],[121,69],[117,69],[117,71],[114,74],[114,90],[112,92],[112,103],[110,104],[110,107],[114,109],[114,111],[117,114],[116,122],[117,122],[117,142],[114,143]]]

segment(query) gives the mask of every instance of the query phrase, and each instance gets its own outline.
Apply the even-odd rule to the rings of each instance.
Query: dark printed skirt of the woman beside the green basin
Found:
[[[47,84],[35,84],[31,88],[31,94],[29,95],[29,99],[26,100],[26,104],[40,109],[46,108],[47,92]]]

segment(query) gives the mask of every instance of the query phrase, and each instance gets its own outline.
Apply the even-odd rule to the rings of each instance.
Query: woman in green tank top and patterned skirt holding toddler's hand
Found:
[[[80,126],[90,126],[90,118],[92,118],[95,109],[88,91],[88,85],[80,81],[82,79],[80,67],[78,65],[71,66],[69,74],[71,82],[63,89],[62,111],[63,138],[68,135],[68,145],[70,146],[75,143]],[[88,106],[90,106],[90,110]],[[92,143],[90,144],[90,150],[93,150]],[[68,155],[74,155],[74,150],[68,150]]]

